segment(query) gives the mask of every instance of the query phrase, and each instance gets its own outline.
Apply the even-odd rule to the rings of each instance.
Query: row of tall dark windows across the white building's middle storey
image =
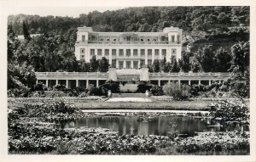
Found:
[[[90,49],[90,55],[102,56],[102,49]],[[105,49],[105,56],[109,55],[109,49]],[[112,56],[116,56],[117,49],[112,49]],[[84,48],[80,48],[80,53],[84,54]],[[140,49],[141,56],[145,55],[145,49]],[[157,56],[160,53],[160,49],[154,49],[154,55]],[[176,54],[177,49],[172,48],[172,54]],[[138,55],[138,49],[133,49],[133,56]],[[152,49],[148,49],[148,56],[152,55]],[[166,49],[162,49],[162,55],[166,56]],[[119,49],[119,56],[124,56],[124,49]],[[131,56],[131,49],[126,49],[126,56]]]

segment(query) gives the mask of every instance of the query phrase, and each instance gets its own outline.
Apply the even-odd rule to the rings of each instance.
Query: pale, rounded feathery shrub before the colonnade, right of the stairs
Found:
[[[172,96],[174,100],[188,100],[190,87],[188,85],[179,86],[177,83],[167,83],[163,86],[166,95]]]

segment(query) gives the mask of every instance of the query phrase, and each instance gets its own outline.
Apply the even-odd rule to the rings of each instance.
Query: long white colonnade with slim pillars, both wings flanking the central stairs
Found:
[[[36,75],[37,82],[43,82],[47,87],[54,87],[57,84],[65,85],[67,88],[87,88],[90,84],[99,87],[109,80],[108,73],[100,72],[37,72]],[[158,86],[163,86],[167,82],[211,85],[213,81],[224,81],[228,77],[229,73],[148,73],[148,81]]]

